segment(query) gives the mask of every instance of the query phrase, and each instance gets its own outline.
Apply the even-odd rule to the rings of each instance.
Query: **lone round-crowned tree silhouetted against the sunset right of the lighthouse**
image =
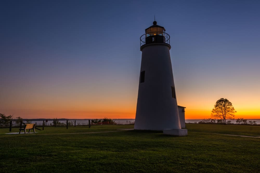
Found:
[[[234,119],[234,114],[237,112],[228,99],[219,99],[211,111],[211,116],[221,119],[223,124],[226,124],[226,119]]]

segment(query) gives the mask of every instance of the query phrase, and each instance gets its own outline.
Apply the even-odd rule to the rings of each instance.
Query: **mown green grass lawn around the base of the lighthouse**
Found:
[[[0,129],[0,172],[260,171],[260,138],[219,135],[259,136],[260,126],[186,125],[188,136],[183,137],[109,132],[133,125],[45,127],[28,135]]]

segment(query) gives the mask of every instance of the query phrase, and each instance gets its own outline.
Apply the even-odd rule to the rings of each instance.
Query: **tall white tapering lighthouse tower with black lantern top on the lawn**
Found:
[[[140,46],[142,60],[134,129],[170,130],[173,135],[187,135],[179,118],[170,36],[154,21],[140,37]]]

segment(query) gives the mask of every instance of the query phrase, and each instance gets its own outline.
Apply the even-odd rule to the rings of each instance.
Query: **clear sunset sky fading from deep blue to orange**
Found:
[[[134,119],[140,36],[170,35],[177,103],[210,118],[220,98],[260,119],[259,1],[0,1],[0,113]]]

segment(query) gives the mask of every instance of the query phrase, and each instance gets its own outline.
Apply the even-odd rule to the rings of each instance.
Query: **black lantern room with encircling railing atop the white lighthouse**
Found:
[[[145,29],[145,34],[140,37],[140,46],[151,43],[166,43],[170,44],[170,36],[165,33],[162,26],[157,25],[154,21],[153,25]]]

